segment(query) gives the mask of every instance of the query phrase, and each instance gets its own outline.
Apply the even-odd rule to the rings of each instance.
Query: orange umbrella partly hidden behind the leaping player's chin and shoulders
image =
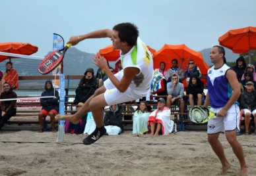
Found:
[[[154,53],[156,50],[152,49],[149,46],[146,46],[150,53]],[[99,51],[100,55],[104,56],[106,60],[108,61],[116,61],[120,57],[120,50],[119,49],[113,49],[113,45],[108,45],[108,47],[104,47],[103,49],[100,49]]]

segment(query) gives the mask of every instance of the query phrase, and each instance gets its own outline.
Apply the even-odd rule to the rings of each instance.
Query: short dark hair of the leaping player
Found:
[[[131,24],[129,22],[120,23],[113,26],[113,30],[118,32],[120,41],[126,41],[128,46],[134,46],[137,44],[139,30],[135,24]]]

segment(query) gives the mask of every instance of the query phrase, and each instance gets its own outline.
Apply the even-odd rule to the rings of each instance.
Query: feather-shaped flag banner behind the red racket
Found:
[[[63,37],[61,37],[61,35],[57,34],[57,33],[53,33],[53,51],[59,50],[59,49],[63,49],[64,47],[64,39]],[[58,76],[59,74],[61,74],[61,64],[59,64],[52,72],[51,74],[53,76]],[[53,86],[55,88],[59,88],[59,79],[54,79],[51,80],[51,82],[53,83]]]

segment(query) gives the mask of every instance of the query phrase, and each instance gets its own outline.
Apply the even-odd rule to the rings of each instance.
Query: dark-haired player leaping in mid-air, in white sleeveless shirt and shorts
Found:
[[[79,112],[70,116],[59,116],[61,120],[78,123],[80,117],[92,111],[96,129],[82,141],[84,144],[92,144],[106,134],[103,123],[104,106],[128,102],[146,96],[150,90],[153,76],[152,56],[139,38],[139,30],[134,24],[121,23],[115,25],[113,30],[97,30],[84,35],[72,36],[67,43],[77,45],[79,41],[84,39],[103,37],[110,37],[113,49],[120,49],[123,70],[113,75],[106,59],[98,53],[98,57],[93,57],[93,63],[106,73],[108,79],[84,103]]]

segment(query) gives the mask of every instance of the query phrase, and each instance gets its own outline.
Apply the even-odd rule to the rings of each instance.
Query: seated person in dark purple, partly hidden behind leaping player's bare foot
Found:
[[[82,105],[84,105],[84,103],[82,102],[79,102],[79,104],[77,104],[76,106],[77,111],[80,110]],[[75,114],[76,112],[71,112],[71,114]],[[86,118],[87,118],[87,114],[82,116],[82,118],[79,120],[79,123],[77,124],[74,124],[69,120],[65,121],[65,133],[71,133],[71,134],[77,134],[77,135],[83,133],[84,126],[86,125]]]

